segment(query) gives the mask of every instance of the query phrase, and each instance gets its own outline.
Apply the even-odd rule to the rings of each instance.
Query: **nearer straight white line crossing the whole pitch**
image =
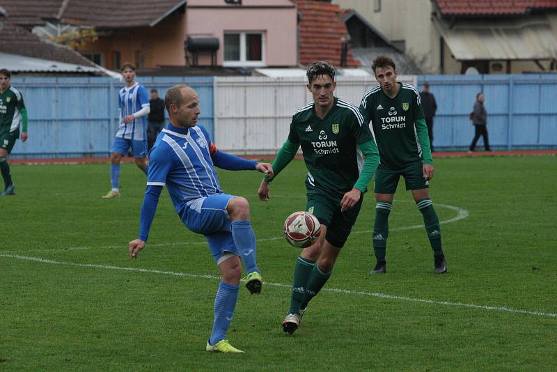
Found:
[[[69,266],[77,266],[79,268],[99,268],[99,269],[107,269],[107,270],[121,270],[121,271],[130,271],[130,272],[145,272],[148,274],[163,274],[163,275],[172,275],[175,277],[188,277],[194,279],[214,279],[218,280],[220,277],[214,275],[199,275],[199,274],[188,274],[187,272],[173,272],[173,271],[164,271],[164,270],[151,270],[151,269],[143,269],[143,268],[123,268],[120,266],[112,266],[112,265],[97,265],[93,263],[71,263],[71,262],[64,262],[64,261],[53,261],[47,260],[45,258],[39,257],[29,257],[29,256],[15,256],[12,254],[0,254],[0,257],[6,258],[15,258],[17,260],[24,260],[24,261],[33,261],[38,263],[50,263],[53,265],[69,265]],[[271,283],[269,281],[264,282],[266,286],[274,286],[279,288],[291,288],[292,286],[288,284],[280,284],[280,283]],[[512,307],[504,307],[504,306],[487,306],[487,305],[480,305],[480,304],[466,304],[463,302],[449,302],[449,301],[436,301],[436,300],[426,300],[423,298],[413,298],[413,297],[405,297],[405,296],[396,296],[396,295],[388,295],[386,293],[377,293],[377,292],[365,292],[362,290],[347,290],[347,289],[338,289],[338,288],[323,288],[327,292],[334,292],[334,293],[343,293],[346,295],[361,295],[366,297],[377,297],[386,300],[398,300],[398,301],[406,301],[406,302],[421,302],[424,304],[432,304],[432,305],[445,305],[450,307],[464,307],[464,308],[471,308],[471,309],[481,309],[481,310],[488,310],[488,311],[501,311],[507,313],[523,313],[533,316],[542,316],[545,318],[557,318],[557,313],[542,313],[540,311],[531,311],[531,310],[523,310],[523,309],[513,309]]]

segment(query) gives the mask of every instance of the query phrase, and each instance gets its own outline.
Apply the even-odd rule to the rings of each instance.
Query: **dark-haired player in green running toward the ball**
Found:
[[[309,171],[306,210],[321,224],[319,240],[297,258],[290,309],[282,323],[284,332],[289,334],[295,332],[306,305],[331,276],[340,249],[356,222],[363,192],[379,163],[375,139],[362,112],[334,97],[333,65],[312,63],[307,77],[314,102],[292,116],[288,139],[273,162],[276,177],[301,146]],[[262,180],[258,190],[262,201],[269,200],[271,181]]]

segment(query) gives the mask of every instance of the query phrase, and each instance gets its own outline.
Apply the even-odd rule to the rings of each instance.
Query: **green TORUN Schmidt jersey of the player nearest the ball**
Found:
[[[315,115],[314,103],[296,111],[288,140],[301,145],[309,171],[306,187],[342,196],[354,187],[363,166],[358,145],[373,135],[358,107],[335,97],[323,119]]]

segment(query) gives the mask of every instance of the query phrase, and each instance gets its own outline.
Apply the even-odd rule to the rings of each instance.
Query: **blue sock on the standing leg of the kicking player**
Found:
[[[240,286],[224,283],[221,281],[217,297],[214,298],[214,323],[209,343],[215,343],[226,338],[226,331],[234,316],[234,308],[238,299]]]

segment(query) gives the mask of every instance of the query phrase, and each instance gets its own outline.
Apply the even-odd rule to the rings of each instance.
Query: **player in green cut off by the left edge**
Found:
[[[22,141],[27,141],[27,110],[22,93],[10,86],[11,76],[10,71],[5,68],[0,70],[0,171],[4,180],[4,189],[0,196],[15,194],[8,155],[19,137],[19,127]]]

